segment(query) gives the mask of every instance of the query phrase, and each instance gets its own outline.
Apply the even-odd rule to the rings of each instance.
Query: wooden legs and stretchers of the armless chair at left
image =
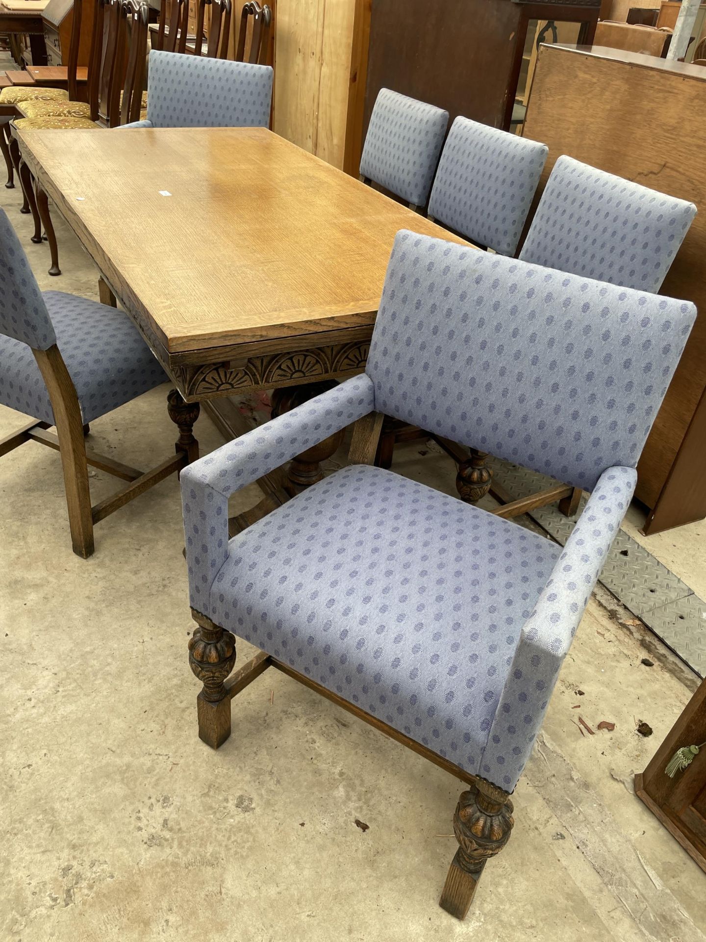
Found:
[[[51,426],[48,422],[32,421],[0,439],[0,457],[30,441],[39,442],[40,445],[46,445],[59,452],[73,552],[83,559],[88,559],[94,550],[94,524],[133,498],[144,494],[153,484],[158,484],[174,472],[179,474],[186,464],[199,458],[199,443],[193,435],[193,426],[199,417],[199,403],[187,404],[176,389],[170,390],[168,414],[179,428],[176,456],[157,464],[150,471],[139,471],[128,464],[87,449],[85,436],[89,432],[88,425],[83,423],[76,389],[59,349],[54,344],[45,350],[32,349],[32,352],[52,403],[56,434],[49,431]],[[91,506],[88,465],[128,483],[115,494]]]

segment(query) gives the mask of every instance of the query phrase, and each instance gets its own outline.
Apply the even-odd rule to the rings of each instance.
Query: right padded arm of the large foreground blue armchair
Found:
[[[532,752],[556,677],[634,493],[632,467],[602,473],[522,627],[481,759],[481,775],[512,791]]]

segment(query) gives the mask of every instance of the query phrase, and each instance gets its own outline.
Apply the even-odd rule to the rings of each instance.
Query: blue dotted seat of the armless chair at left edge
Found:
[[[117,409],[167,380],[122,311],[87,298],[45,291],[56,346],[71,375],[84,422]],[[0,334],[0,403],[54,424],[49,393],[32,350]]]

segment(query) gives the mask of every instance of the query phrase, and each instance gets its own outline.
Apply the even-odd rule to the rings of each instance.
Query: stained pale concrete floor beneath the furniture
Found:
[[[42,286],[96,296],[60,220],[64,274],[50,279],[19,191],[0,188],[0,202]],[[167,389],[95,422],[93,447],[161,460]],[[0,436],[22,421],[0,409]],[[197,433],[204,452],[221,444],[206,418]],[[395,467],[453,493],[453,466],[433,450],[400,450]],[[91,485],[97,497],[113,482],[91,473]],[[513,836],[460,923],[437,905],[456,846],[452,776],[281,674],[234,701],[221,750],[198,739],[175,479],[100,524],[88,561],[70,550],[54,452],[4,458],[0,492],[3,942],[704,939],[706,875],[632,785],[697,678],[621,625],[617,603],[586,612]],[[648,545],[704,594],[702,525]],[[250,653],[241,643],[240,662]],[[616,729],[582,736],[579,714]]]

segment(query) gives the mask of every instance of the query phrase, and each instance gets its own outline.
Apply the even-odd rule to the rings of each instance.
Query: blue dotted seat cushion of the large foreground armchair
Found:
[[[231,540],[211,617],[476,773],[522,625],[560,551],[457,498],[354,465]]]

